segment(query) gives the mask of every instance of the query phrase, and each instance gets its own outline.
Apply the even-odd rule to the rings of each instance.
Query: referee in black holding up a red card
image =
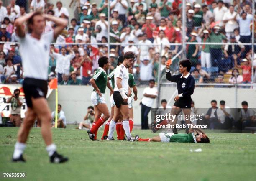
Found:
[[[195,80],[189,71],[191,69],[191,62],[188,59],[184,59],[179,62],[179,72],[180,74],[171,75],[169,70],[170,65],[166,62],[166,79],[171,82],[177,83],[178,95],[174,97],[174,105],[172,106],[172,115],[179,115],[183,110],[185,116],[186,124],[191,124],[189,118],[191,113],[191,95],[194,93],[195,89]],[[189,116],[187,116],[189,115]],[[174,125],[177,123],[177,120],[172,120]],[[173,130],[174,133],[177,133],[177,130]],[[188,129],[186,129],[188,133]]]

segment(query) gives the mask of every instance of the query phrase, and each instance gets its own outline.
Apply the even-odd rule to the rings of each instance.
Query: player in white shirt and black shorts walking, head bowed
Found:
[[[115,88],[113,93],[113,99],[115,102],[113,120],[110,121],[109,133],[107,140],[113,140],[113,133],[116,122],[120,114],[123,116],[123,129],[127,136],[128,141],[137,141],[137,139],[131,138],[130,126],[129,126],[129,109],[128,109],[128,91],[129,91],[129,72],[128,68],[133,65],[135,56],[132,51],[126,52],[124,55],[123,64],[119,65],[115,69]]]

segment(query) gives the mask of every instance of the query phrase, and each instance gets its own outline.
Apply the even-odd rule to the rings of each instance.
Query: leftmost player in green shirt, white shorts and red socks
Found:
[[[108,106],[105,102],[104,93],[106,87],[113,92],[110,83],[108,82],[106,71],[108,71],[110,62],[108,57],[102,56],[98,60],[99,68],[95,71],[95,74],[90,79],[90,84],[92,85],[93,92],[91,94],[92,105],[95,111],[95,120],[92,123],[92,128],[87,131],[89,138],[91,140],[97,140],[97,131],[103,123],[110,117]],[[103,116],[101,117],[101,114]]]

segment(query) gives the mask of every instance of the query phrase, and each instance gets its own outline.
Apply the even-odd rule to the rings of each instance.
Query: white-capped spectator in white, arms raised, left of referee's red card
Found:
[[[154,61],[150,63],[148,56],[144,56],[142,60],[141,63],[140,58],[137,59],[137,64],[140,66],[140,80],[141,84],[147,84],[152,79]]]

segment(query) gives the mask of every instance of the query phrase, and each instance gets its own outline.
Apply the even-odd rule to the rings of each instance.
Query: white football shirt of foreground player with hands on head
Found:
[[[42,34],[40,40],[27,33],[25,37],[19,37],[24,77],[47,80],[50,43],[53,39],[53,31]]]

